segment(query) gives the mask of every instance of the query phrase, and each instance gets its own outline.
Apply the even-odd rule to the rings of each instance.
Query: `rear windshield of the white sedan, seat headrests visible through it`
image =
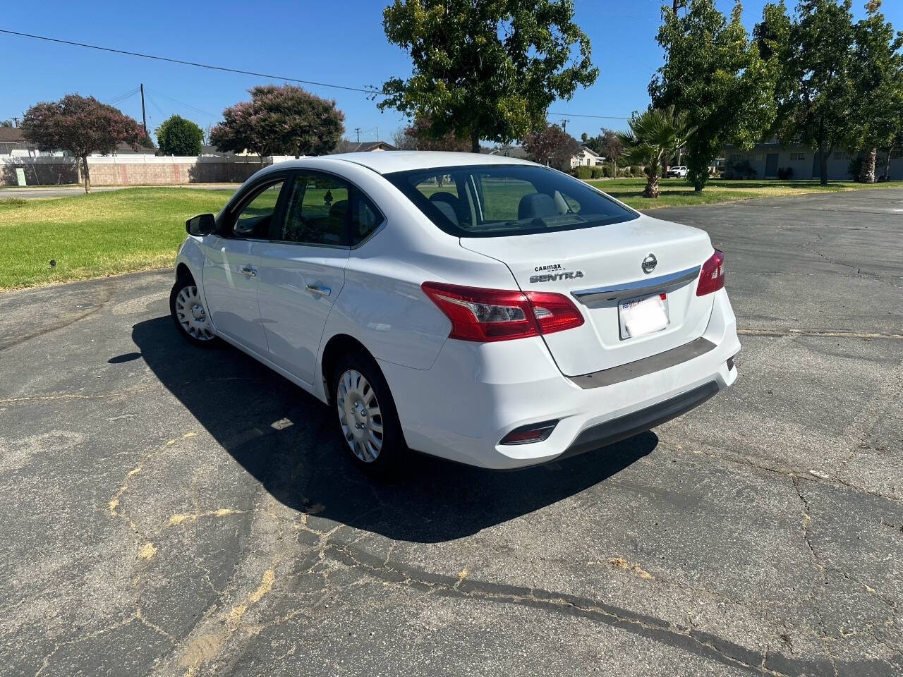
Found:
[[[446,233],[498,237],[621,223],[638,214],[547,167],[470,165],[386,174]]]

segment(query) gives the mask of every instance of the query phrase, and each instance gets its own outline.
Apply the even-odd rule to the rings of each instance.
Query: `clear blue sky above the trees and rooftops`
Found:
[[[744,4],[749,28],[759,20],[766,0]],[[788,5],[794,5],[790,0]],[[267,2],[219,0],[216,5],[161,0],[128,5],[107,0],[90,3],[6,2],[0,28],[76,42],[139,51],[217,66],[279,76],[318,80],[352,87],[379,86],[393,75],[405,76],[405,53],[386,42],[382,0]],[[731,0],[718,0],[730,12]],[[864,0],[855,0],[857,17]],[[41,11],[35,11],[40,7]],[[570,101],[550,108],[549,119],[568,118],[568,131],[596,134],[600,126],[620,128],[624,120],[592,116],[628,116],[647,106],[647,84],[661,64],[655,42],[659,0],[577,0],[575,20],[591,39],[600,78]],[[903,0],[885,0],[884,14],[903,30]],[[170,22],[169,17],[178,17]],[[21,116],[37,101],[69,92],[109,101],[143,82],[148,93],[148,129],[178,113],[199,125],[215,123],[223,107],[247,99],[247,88],[267,80],[201,70],[79,47],[38,42],[0,33],[0,119]],[[393,111],[380,113],[359,93],[307,86],[334,97],[345,112],[346,136],[361,141],[388,139],[405,120]],[[141,101],[133,96],[117,106],[141,119]],[[561,114],[565,115],[561,115]]]

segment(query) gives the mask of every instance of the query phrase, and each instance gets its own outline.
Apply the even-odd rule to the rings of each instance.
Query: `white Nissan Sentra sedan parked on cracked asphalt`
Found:
[[[284,162],[186,227],[176,327],[329,404],[368,468],[407,449],[544,463],[647,431],[737,377],[709,236],[532,162]]]

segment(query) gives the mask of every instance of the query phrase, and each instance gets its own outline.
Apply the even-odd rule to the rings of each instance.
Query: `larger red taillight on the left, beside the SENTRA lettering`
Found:
[[[423,283],[424,293],[452,320],[449,338],[503,341],[583,324],[573,301],[551,292],[517,292],[457,284]]]

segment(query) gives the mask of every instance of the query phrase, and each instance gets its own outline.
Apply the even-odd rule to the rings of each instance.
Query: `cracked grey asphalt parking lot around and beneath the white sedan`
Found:
[[[541,468],[373,484],[170,273],[0,295],[8,675],[899,675],[903,190],[655,212],[726,254],[740,378]]]

